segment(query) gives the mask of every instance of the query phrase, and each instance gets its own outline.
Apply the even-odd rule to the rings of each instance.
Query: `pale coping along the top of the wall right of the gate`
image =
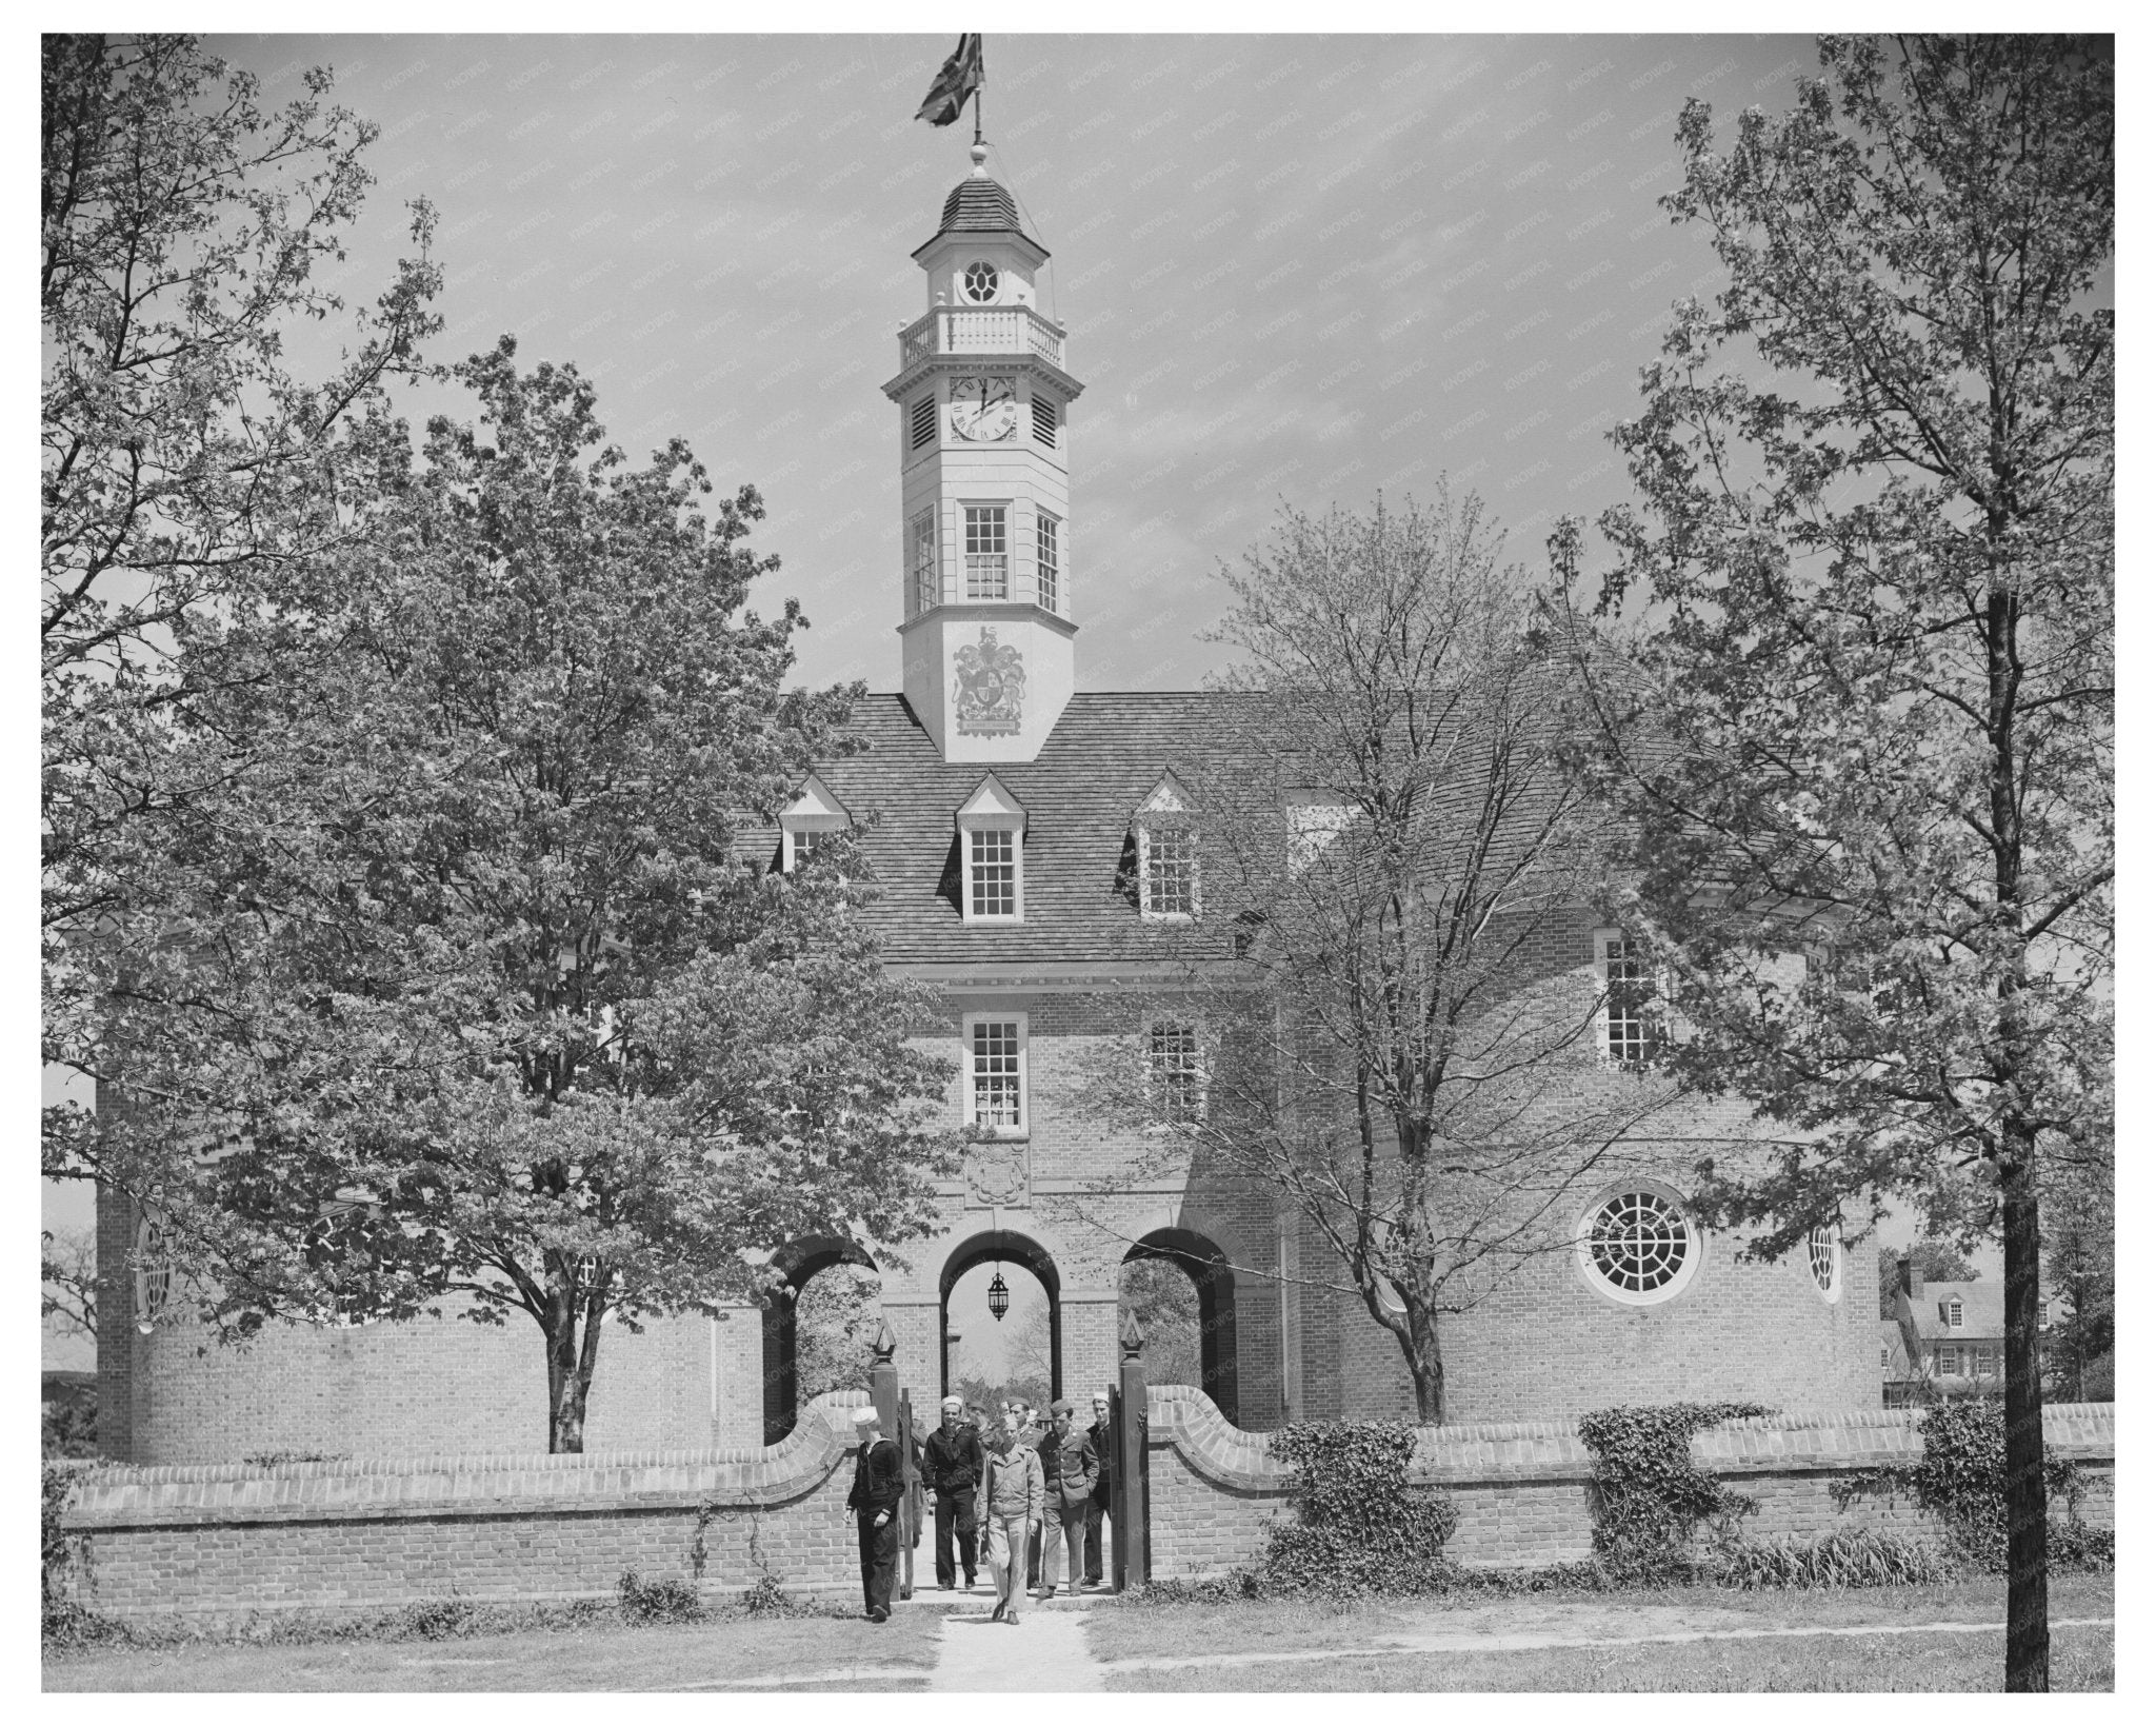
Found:
[[[1205,1392],[1151,1385],[1149,1443],[1173,1448],[1194,1474],[1244,1493],[1285,1493],[1289,1469],[1268,1448],[1266,1433],[1229,1426]],[[1921,1409],[1789,1409],[1749,1415],[1692,1435],[1692,1454],[1723,1471],[1854,1469],[1917,1454]],[[2044,1441],[2068,1456],[2109,1458],[2117,1446],[2111,1402],[2057,1402],[2044,1409]],[[1410,1480],[1585,1480],[1593,1452],[1570,1420],[1490,1422],[1416,1428]]]

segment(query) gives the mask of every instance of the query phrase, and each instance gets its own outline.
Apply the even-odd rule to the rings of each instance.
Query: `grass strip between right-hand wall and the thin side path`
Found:
[[[2055,1577],[2053,1618],[2109,1618],[2113,1579]],[[1667,1635],[1777,1625],[2001,1622],[2005,1581],[1981,1577],[1947,1588],[1757,1590],[1669,1588],[1626,1594],[1522,1594],[1460,1601],[1235,1601],[1220,1605],[1143,1605],[1128,1601],[1087,1614],[1095,1659],[1175,1659],[1188,1655],[1367,1648],[1423,1635]],[[2102,1635],[2109,1631],[2078,1631]],[[1921,1642],[1921,1638],[1915,1638]],[[1708,1644],[1718,1646],[1718,1644]],[[1744,1644],[1755,1648],[1757,1644]],[[1835,1646],[1841,1646],[1839,1642]],[[1583,1650],[1585,1655],[1587,1650]],[[1667,1650],[1656,1650],[1667,1653]],[[1783,1650],[1789,1653],[1789,1650]],[[1746,1655],[1751,1657],[1751,1655]],[[1789,1655],[1798,1657],[1798,1655]],[[1805,1655],[1809,1659],[1809,1655]],[[1447,1659],[1453,1659],[1447,1655]],[[1388,1659],[1386,1666],[1412,1661]],[[2109,1668],[2109,1655],[2106,1655]],[[1203,1672],[1205,1668],[1197,1668]],[[1259,1668],[1253,1668],[1253,1679]],[[1128,1676],[1128,1674],[1125,1674]],[[1166,1679],[1164,1672],[1149,1674]],[[1283,1679],[1283,1683],[1289,1683]],[[1151,1687],[1151,1685],[1147,1685]],[[1177,1681],[1177,1687],[1179,1681]],[[1205,1685],[1197,1685],[1205,1687]],[[1341,1685],[1322,1685],[1341,1687]],[[1453,1685],[1455,1689],[1460,1685]]]

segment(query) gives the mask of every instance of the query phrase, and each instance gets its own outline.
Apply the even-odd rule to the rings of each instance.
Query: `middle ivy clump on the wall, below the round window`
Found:
[[[1692,1463],[1692,1433],[1764,1413],[1757,1402],[1667,1402],[1580,1415],[1580,1441],[1595,1454],[1595,1558],[1613,1579],[1654,1588],[1705,1573],[1686,1551],[1692,1534],[1703,1521],[1729,1528],[1757,1502]]]

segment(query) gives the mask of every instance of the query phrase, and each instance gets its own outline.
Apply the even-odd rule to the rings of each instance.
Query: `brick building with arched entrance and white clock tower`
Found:
[[[944,1389],[949,1299],[972,1266],[1039,1277],[1056,1387],[1082,1396],[1112,1379],[1123,1262],[1175,1256],[1199,1284],[1203,1389],[1231,1422],[1412,1415],[1397,1344],[1332,1288],[1328,1249],[1291,1206],[1201,1154],[1173,1165],[1095,1107],[1102,1055],[1121,1046],[1145,1049],[1171,1096],[1203,1085],[1199,1031],[1173,997],[1192,951],[1203,967],[1192,943],[1229,936],[1203,919],[1205,809],[1177,764],[1203,753],[1220,697],[1080,688],[1069,438],[1082,386],[1067,332],[1035,302],[1048,252],[983,160],[977,147],[914,252],[927,306],[899,332],[884,384],[901,466],[901,690],[865,699],[862,749],[811,775],[778,831],[748,839],[789,869],[819,835],[856,835],[886,962],[944,992],[951,1109],[979,1139],[940,1191],[931,1238],[897,1251],[785,1241],[774,1264],[800,1288],[832,1264],[873,1262],[916,1402]],[[1535,986],[1606,995],[1623,945],[1602,921],[1591,906],[1550,915]],[[1626,1059],[1634,1031],[1604,1012],[1548,1083],[1643,1083]],[[1809,1254],[1749,1264],[1686,1210],[1699,1143],[1744,1126],[1718,1105],[1671,1113],[1662,1137],[1567,1191],[1563,1249],[1447,1327],[1451,1420],[1671,1398],[1876,1407],[1869,1284],[1850,1292],[1841,1241],[1822,1230]],[[138,1230],[108,1195],[103,1262],[127,1258]],[[101,1307],[99,1335],[108,1454],[545,1448],[537,1329],[272,1327],[220,1351],[172,1316],[157,1277],[119,1282],[127,1299]],[[757,1446],[791,1430],[791,1312],[774,1301],[614,1329],[589,1448]]]

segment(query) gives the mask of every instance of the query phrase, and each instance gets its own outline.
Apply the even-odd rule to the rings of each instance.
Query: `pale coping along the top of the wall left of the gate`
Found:
[[[783,1504],[813,1491],[852,1452],[867,1392],[826,1392],[776,1446],[591,1450],[573,1456],[334,1456],[315,1463],[91,1463],[73,1469],[69,1523],[201,1517],[410,1515],[496,1502],[606,1508],[636,1499],[711,1497],[722,1508]]]

